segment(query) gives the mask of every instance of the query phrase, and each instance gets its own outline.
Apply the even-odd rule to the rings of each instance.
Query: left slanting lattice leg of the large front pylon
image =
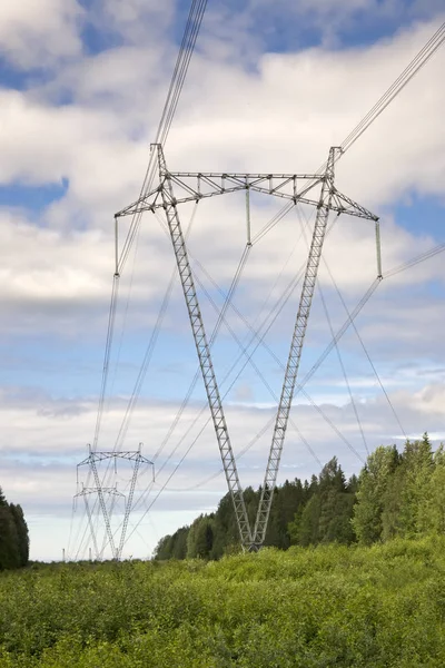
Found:
[[[166,212],[168,228],[175,250],[179,277],[187,304],[188,316],[199,357],[199,364],[202,372],[202,380],[206,387],[208,404],[210,407],[215,433],[222,460],[222,466],[226,474],[227,485],[234,502],[235,515],[237,519],[241,542],[243,544],[249,544],[251,542],[249,519],[244,501],[243,488],[239,483],[238,471],[231,449],[222,402],[216,381],[214,364],[210,355],[210,346],[207,341],[198,295],[195,287],[190,263],[188,261],[186,243],[179,220],[176,198],[174,196],[171,178],[166,168],[162,147],[158,145],[157,149],[162,206]]]

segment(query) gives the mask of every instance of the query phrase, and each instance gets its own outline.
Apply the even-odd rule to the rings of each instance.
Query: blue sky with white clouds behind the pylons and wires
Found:
[[[347,136],[443,22],[441,4],[209,3],[166,145],[169,167],[317,169],[329,146]],[[187,11],[187,3],[174,0],[6,0],[0,9],[0,484],[8,499],[23,504],[34,559],[58,559],[62,548],[71,557],[88,551],[88,538],[81,538],[88,536],[85,513],[79,509],[72,517],[71,503],[76,462],[86,456],[95,433],[113,273],[112,217],[138,196]],[[384,273],[445,242],[444,57],[442,49],[338,163],[338,188],[380,216]],[[268,198],[253,199],[254,233],[278,208]],[[185,207],[182,215],[186,226],[191,209]],[[304,215],[313,220],[313,212]],[[194,217],[189,246],[207,274],[194,267],[219,307],[222,297],[209,276],[228,289],[245,228],[241,196],[201,203]],[[121,244],[127,229],[122,219]],[[250,252],[234,297],[249,325],[257,327],[270,313],[304,264],[300,230],[293,213]],[[354,308],[376,275],[373,225],[342,217],[324,257]],[[116,442],[174,268],[165,233],[146,215],[120,279],[102,449]],[[319,278],[337,330],[346,312],[325,265]],[[356,321],[403,431],[428,430],[435,443],[445,434],[443,296],[443,255],[436,255],[384,279]],[[210,332],[217,315],[201,288],[200,297]],[[197,369],[182,301],[176,283],[123,443],[131,450],[144,442],[148,458],[166,440]],[[298,286],[266,336],[281,363],[297,304]],[[227,318],[248,341],[246,322],[234,310]],[[316,295],[300,377],[329,341]],[[402,443],[399,424],[352,330],[340,352],[366,446]],[[221,381],[238,355],[238,344],[222,326],[214,347]],[[261,346],[254,361],[279,394],[283,371],[276,361]],[[222,393],[241,364],[221,383]],[[337,454],[348,474],[358,471],[366,448],[335,351],[306,389],[359,456],[301,395],[293,420],[319,461]],[[221,475],[201,484],[220,470],[215,436],[205,426],[208,413],[195,423],[204,400],[199,380],[157,459],[160,473],[148,504],[204,431],[134,533],[128,553],[147,556],[159,538],[211,510],[226,491]],[[239,452],[273,418],[275,400],[247,366],[226,401]],[[240,459],[244,484],[260,484],[269,439],[270,430]],[[289,430],[280,480],[309,477],[318,468]],[[125,487],[126,480],[128,470],[122,470],[115,482]],[[148,484],[141,479],[141,489]]]

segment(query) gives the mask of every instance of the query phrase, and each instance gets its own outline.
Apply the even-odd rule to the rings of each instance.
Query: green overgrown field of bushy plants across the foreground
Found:
[[[0,573],[0,667],[445,665],[445,539]]]

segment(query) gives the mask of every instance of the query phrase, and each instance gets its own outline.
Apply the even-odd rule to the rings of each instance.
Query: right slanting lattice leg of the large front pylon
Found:
[[[314,291],[317,283],[318,266],[322,257],[323,243],[325,240],[326,227],[332,208],[334,189],[334,163],[335,154],[340,149],[332,148],[327,168],[323,177],[322,193],[317,207],[317,215],[314,225],[313,239],[309,255],[306,264],[305,277],[303,281],[301,296],[295,321],[294,334],[290,343],[289,356],[283,382],[281,396],[278,404],[277,416],[274,426],[274,434],[269,451],[269,458],[266,466],[266,474],[261,488],[261,494],[254,529],[253,549],[264,543],[266,537],[267,523],[270,514],[274,490],[277,481],[279,462],[285,442],[287,423],[289,420],[290,406],[294,399],[295,383],[297,380],[299,362],[301,358],[303,343],[306,335],[307,323],[309,320],[310,306],[313,303]]]

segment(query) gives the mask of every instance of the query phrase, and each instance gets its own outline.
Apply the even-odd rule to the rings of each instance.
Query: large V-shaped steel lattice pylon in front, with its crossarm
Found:
[[[121,216],[137,215],[144,212],[155,213],[157,209],[164,209],[165,212],[226,481],[234,503],[241,544],[248,550],[257,550],[261,547],[266,537],[329,213],[336,212],[338,215],[348,214],[358,218],[375,220],[376,224],[378,217],[346,195],[339,193],[335,187],[334,166],[337,156],[342,150],[337,147],[330,148],[326,170],[323,174],[169,171],[167,169],[162,146],[156,144],[152,145],[152,149],[157,150],[159,184],[148,194],[142,195],[137,202],[117,213],[115,219],[117,222]],[[313,193],[317,188],[319,188],[319,195],[318,197],[314,197]],[[250,527],[247,515],[243,488],[238,477],[222,401],[211,360],[210,346],[206,336],[201,310],[178,213],[178,206],[182,203],[199,202],[204,198],[239,190],[246,190],[247,203],[249,193],[254,191],[287,199],[289,200],[290,206],[306,204],[314,206],[317,209],[283,391],[278,404],[266,474],[254,528]],[[249,244],[249,220],[247,240]]]

